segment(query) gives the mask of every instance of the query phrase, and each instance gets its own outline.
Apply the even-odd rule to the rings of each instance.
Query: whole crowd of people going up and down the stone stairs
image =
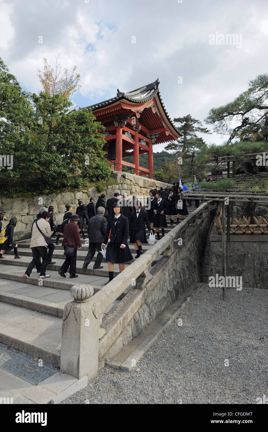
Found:
[[[190,187],[197,187],[189,185]],[[30,283],[29,278],[32,270],[36,267],[40,279],[50,277],[46,273],[48,264],[56,264],[52,261],[55,245],[52,237],[56,237],[55,244],[59,245],[62,238],[65,260],[59,270],[59,275],[66,277],[69,269],[70,278],[77,278],[76,260],[77,250],[81,250],[81,237],[86,238],[84,226],[87,224],[87,238],[89,251],[84,260],[82,272],[87,272],[87,267],[93,260],[97,251],[97,257],[93,265],[94,270],[102,269],[102,260],[105,256],[108,261],[109,283],[114,276],[114,264],[118,264],[120,273],[125,268],[125,263],[131,261],[133,256],[128,246],[134,245],[136,256],[143,254],[142,244],[148,243],[148,234],[156,234],[160,239],[159,229],[162,237],[165,235],[167,225],[166,216],[170,225],[174,225],[174,216],[177,215],[177,224],[180,217],[183,220],[188,215],[187,207],[191,205],[187,195],[183,198],[181,193],[188,190],[188,186],[181,180],[180,184],[173,184],[173,187],[160,187],[151,189],[146,205],[133,196],[131,200],[123,198],[119,193],[106,201],[105,194],[100,195],[95,205],[93,198],[86,205],[82,200],[78,201],[75,214],[72,213],[72,206],[66,205],[65,213],[54,219],[53,206],[43,206],[34,219],[31,226],[32,260],[23,275],[25,283]],[[195,199],[195,206],[199,206],[199,199]],[[4,220],[4,213],[0,213],[0,229]],[[14,249],[15,259],[21,258],[18,255],[18,245],[13,241],[13,232],[17,219],[12,217],[6,229],[1,232],[0,242],[2,243],[0,258],[4,258],[5,251]],[[107,245],[107,248],[106,248]],[[106,249],[105,249],[106,248]]]

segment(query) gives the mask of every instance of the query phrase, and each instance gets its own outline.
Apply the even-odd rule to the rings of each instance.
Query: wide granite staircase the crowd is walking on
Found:
[[[189,214],[193,210],[195,210],[194,206],[188,207]],[[170,225],[169,220],[167,222],[166,233],[176,226],[176,216],[174,225]],[[161,230],[160,238],[162,238]],[[14,260],[13,251],[4,254],[6,258],[0,260],[1,343],[43,359],[52,365],[60,364],[62,313],[65,304],[72,301],[71,287],[77,284],[89,284],[96,293],[103,288],[109,277],[106,261],[102,263],[103,269],[93,269],[97,254],[87,267],[87,272],[82,272],[88,245],[86,244],[87,239],[81,238],[81,242],[82,248],[77,251],[76,273],[79,277],[76,279],[69,279],[69,273],[66,274],[65,279],[58,274],[64,260],[61,245],[55,245],[52,260],[56,261],[56,264],[47,266],[47,274],[50,274],[50,278],[38,280],[39,273],[34,268],[30,277],[30,285],[25,284],[22,279],[29,262],[32,260],[30,239],[18,242],[18,252],[22,259]],[[129,246],[134,256],[134,246]],[[146,251],[150,246],[145,244],[142,248],[143,251]],[[161,258],[161,256],[158,257],[153,266]],[[131,265],[133,261],[126,263],[126,267]],[[118,274],[118,264],[115,264],[114,277]],[[126,287],[125,292],[104,312],[103,319],[131,288],[131,286]]]

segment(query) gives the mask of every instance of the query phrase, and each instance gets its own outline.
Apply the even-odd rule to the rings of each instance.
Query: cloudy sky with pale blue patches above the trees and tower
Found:
[[[222,34],[236,42],[217,43]],[[61,66],[81,74],[80,107],[159,77],[170,117],[203,121],[268,72],[267,46],[267,0],[0,0],[0,57],[10,72],[37,92],[42,58],[61,53]]]

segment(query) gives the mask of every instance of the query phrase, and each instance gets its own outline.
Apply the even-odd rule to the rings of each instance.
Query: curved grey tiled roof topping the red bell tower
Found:
[[[146,102],[151,101],[157,94],[159,96],[159,101],[162,105],[163,111],[165,112],[166,117],[168,118],[169,123],[171,126],[178,132],[179,135],[181,135],[180,130],[175,127],[173,124],[171,118],[168,115],[168,112],[165,110],[165,105],[163,105],[163,101],[160,95],[159,91],[159,78],[156,79],[153,83],[147,84],[146,86],[140,87],[138,89],[132,90],[128,93],[120,92],[119,89],[117,89],[117,94],[115,98],[107,99],[106,101],[99,102],[94,105],[90,105],[86,108],[91,108],[92,111],[95,111],[96,109],[104,108],[110,104],[113,104],[114,102],[117,102],[121,99],[126,99],[130,102],[140,103],[144,104]]]

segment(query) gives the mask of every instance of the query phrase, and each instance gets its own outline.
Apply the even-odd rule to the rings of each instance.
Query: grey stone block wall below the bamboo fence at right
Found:
[[[231,235],[230,242],[230,276],[242,276],[243,288],[268,289],[268,235]],[[209,276],[222,276],[222,240],[215,227],[210,244]]]

